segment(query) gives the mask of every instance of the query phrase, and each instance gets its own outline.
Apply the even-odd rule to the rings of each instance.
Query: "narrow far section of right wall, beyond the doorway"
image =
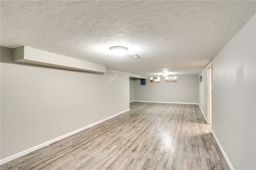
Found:
[[[202,82],[199,82],[199,106],[201,107],[204,116],[207,117],[207,66],[201,71]],[[199,80],[200,74],[198,75]]]

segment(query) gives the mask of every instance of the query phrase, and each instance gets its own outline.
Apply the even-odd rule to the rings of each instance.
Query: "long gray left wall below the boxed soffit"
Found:
[[[1,47],[1,159],[129,109],[129,75],[12,62]]]

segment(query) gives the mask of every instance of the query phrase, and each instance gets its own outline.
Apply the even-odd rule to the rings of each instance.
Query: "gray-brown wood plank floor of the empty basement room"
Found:
[[[143,102],[8,163],[22,167],[1,170],[229,169],[198,105]]]

